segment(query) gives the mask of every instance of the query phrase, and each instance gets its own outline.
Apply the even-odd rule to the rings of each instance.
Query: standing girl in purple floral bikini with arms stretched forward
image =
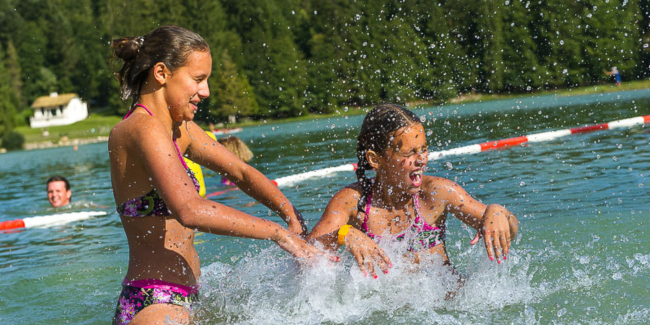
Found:
[[[190,322],[201,273],[195,231],[272,240],[302,259],[323,254],[301,238],[302,216],[282,192],[192,122],[210,95],[212,57],[201,36],[162,26],[113,40],[111,48],[123,61],[116,74],[123,99],[133,100],[108,141],[113,195],[129,244],[114,324]],[[289,229],[199,196],[183,156],[229,175]]]

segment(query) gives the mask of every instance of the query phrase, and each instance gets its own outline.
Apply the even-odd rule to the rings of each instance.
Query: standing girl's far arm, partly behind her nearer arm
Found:
[[[214,141],[194,122],[187,122],[186,130],[192,140],[187,150],[192,161],[226,176],[244,193],[282,217],[289,230],[302,236],[307,233],[307,226],[300,212],[264,174]]]

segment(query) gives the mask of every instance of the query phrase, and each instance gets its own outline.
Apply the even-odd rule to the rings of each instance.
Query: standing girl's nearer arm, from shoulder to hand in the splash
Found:
[[[207,135],[206,135],[207,136]],[[128,141],[127,161],[142,162],[156,188],[178,221],[185,227],[218,235],[268,239],[276,242],[289,253],[311,258],[320,255],[320,250],[275,222],[256,218],[222,204],[199,196],[190,177],[183,167],[170,135],[158,123],[147,127],[132,128]]]

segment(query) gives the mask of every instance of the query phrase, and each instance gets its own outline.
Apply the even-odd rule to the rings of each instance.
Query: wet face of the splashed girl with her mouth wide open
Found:
[[[429,161],[427,139],[422,124],[395,132],[388,148],[378,156],[377,176],[393,191],[416,193],[422,185],[424,167]]]

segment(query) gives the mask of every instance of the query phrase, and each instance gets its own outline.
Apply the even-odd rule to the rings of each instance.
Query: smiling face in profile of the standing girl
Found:
[[[174,121],[191,121],[201,100],[210,96],[208,77],[212,72],[210,52],[194,51],[184,66],[167,81],[167,104]]]

